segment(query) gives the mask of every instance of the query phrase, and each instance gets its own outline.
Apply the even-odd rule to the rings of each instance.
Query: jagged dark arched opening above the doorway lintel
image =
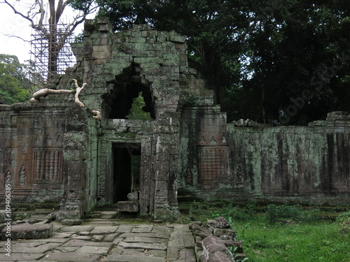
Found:
[[[109,94],[104,94],[104,108],[109,119],[128,119],[134,99],[139,94],[144,99],[144,106],[141,108],[148,112],[151,119],[155,119],[154,101],[151,93],[151,82],[146,80],[142,74],[139,64],[132,64],[125,68],[123,73],[116,75],[116,78],[107,82]]]

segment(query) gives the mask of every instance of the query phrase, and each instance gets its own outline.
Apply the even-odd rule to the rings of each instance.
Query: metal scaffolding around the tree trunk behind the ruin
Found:
[[[69,45],[73,35],[68,31],[67,24],[43,24],[40,30],[32,30],[29,77],[33,86],[44,87],[52,76],[63,74],[75,64]]]

